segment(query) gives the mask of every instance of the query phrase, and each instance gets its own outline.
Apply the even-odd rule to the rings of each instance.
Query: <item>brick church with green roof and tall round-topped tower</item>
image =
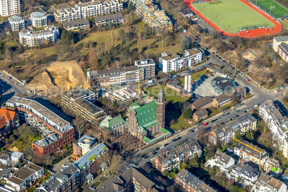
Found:
[[[125,133],[143,140],[147,145],[155,144],[171,137],[165,129],[165,94],[159,91],[156,101],[140,106],[132,103],[128,108],[128,118],[125,121],[121,116],[107,116],[99,127],[109,129],[116,138]]]

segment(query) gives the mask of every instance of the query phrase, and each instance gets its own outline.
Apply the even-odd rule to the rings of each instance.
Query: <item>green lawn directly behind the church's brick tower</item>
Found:
[[[161,89],[165,93],[165,99],[167,102],[171,101],[172,103],[177,103],[177,102],[183,103],[184,101],[187,101],[190,98],[190,97],[184,97],[182,95],[179,95],[178,91],[175,91],[175,90],[167,87],[166,85],[157,85],[154,87],[150,87],[149,89],[145,90],[145,93],[147,93],[148,95],[153,95],[153,96],[157,97],[158,92]]]

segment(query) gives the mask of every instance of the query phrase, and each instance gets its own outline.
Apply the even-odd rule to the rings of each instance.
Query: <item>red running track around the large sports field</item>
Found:
[[[190,9],[190,10],[195,10],[191,3],[195,1],[195,0],[185,0],[184,4]],[[237,34],[236,33],[227,33],[225,31],[221,31],[220,28],[215,25],[213,22],[211,22],[211,20],[208,20],[203,14],[201,14],[200,12],[197,12],[196,14],[202,18],[204,21],[208,20],[209,25],[211,25],[212,27],[214,27],[219,33],[221,32],[222,35],[228,35],[228,36],[240,36],[243,38],[251,38],[251,37],[257,37],[259,35],[264,35],[264,34],[275,34],[275,33],[280,33],[282,31],[282,25],[280,23],[278,23],[276,20],[274,20],[272,17],[268,16],[267,14],[265,14],[264,12],[262,12],[261,10],[257,9],[256,7],[254,7],[253,5],[251,5],[251,3],[247,2],[246,0],[239,0],[242,3],[244,3],[245,5],[247,5],[248,7],[251,7],[253,10],[255,10],[257,13],[261,14],[262,16],[264,16],[266,19],[268,19],[269,21],[271,21],[272,23],[274,23],[275,27],[273,27],[272,29],[265,29],[265,28],[261,28],[261,29],[252,29],[247,31],[240,31]],[[193,11],[194,12],[194,11]]]

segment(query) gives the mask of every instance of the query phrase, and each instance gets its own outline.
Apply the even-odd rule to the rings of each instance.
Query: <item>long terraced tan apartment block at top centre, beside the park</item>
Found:
[[[165,14],[164,10],[159,10],[153,1],[148,0],[132,0],[136,7],[136,14],[156,31],[172,31],[173,24],[170,18]]]

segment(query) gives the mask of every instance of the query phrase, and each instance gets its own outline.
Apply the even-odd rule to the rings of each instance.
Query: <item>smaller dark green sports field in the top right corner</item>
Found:
[[[288,17],[288,9],[280,5],[274,0],[253,0],[251,1],[257,7],[260,6],[263,10],[266,10],[268,14],[278,18],[278,17]]]

